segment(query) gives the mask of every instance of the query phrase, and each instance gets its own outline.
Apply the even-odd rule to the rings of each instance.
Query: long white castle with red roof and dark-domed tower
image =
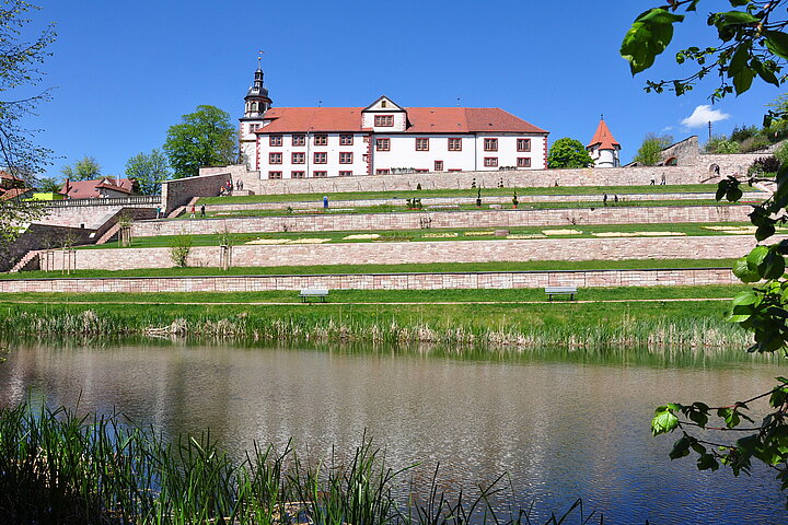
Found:
[[[402,107],[387,96],[367,107],[271,107],[259,66],[240,120],[241,151],[260,178],[547,165],[548,131],[503,109]]]

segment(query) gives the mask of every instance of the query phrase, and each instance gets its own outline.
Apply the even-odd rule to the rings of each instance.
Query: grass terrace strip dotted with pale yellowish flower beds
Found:
[[[508,236],[496,236],[497,229],[420,229],[420,230],[364,230],[341,232],[260,232],[230,234],[235,245],[255,243],[260,240],[274,240],[277,244],[291,241],[294,244],[303,238],[321,238],[321,244],[335,243],[385,243],[385,242],[442,242],[442,241],[500,241],[506,238],[604,238],[621,236],[718,236],[731,235],[731,231],[751,226],[750,223],[672,223],[672,224],[619,224],[619,225],[561,225],[561,226],[530,226],[507,228]],[[217,232],[222,229],[221,222],[216,222]],[[722,228],[728,231],[720,230]],[[547,233],[544,233],[547,232]],[[785,234],[785,229],[778,229]],[[741,234],[741,233],[737,233]],[[752,235],[752,232],[746,234]],[[135,237],[129,247],[153,248],[170,247],[176,242],[178,235],[158,235],[151,237]],[[223,234],[190,235],[193,246],[219,246],[224,242]],[[274,243],[271,243],[274,244]],[[107,249],[117,248],[118,243],[79,246],[77,249]]]

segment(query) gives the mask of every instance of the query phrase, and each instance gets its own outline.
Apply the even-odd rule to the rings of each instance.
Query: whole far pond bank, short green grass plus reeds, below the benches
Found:
[[[722,291],[720,291],[722,292]],[[294,295],[294,293],[292,294]],[[290,300],[293,300],[293,296]],[[0,331],[19,336],[194,336],[250,341],[434,342],[571,348],[744,346],[726,301],[518,304],[19,304]]]

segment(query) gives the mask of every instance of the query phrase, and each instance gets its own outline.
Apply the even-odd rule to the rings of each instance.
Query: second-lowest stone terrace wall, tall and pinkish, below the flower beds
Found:
[[[777,240],[779,238],[785,237]],[[755,240],[749,235],[241,245],[233,248],[233,266],[716,259],[742,256],[754,245]],[[219,254],[218,246],[192,248],[188,266],[218,267]],[[169,248],[79,249],[76,259],[76,269],[84,270],[130,270],[174,266]],[[56,266],[53,269],[60,268]]]

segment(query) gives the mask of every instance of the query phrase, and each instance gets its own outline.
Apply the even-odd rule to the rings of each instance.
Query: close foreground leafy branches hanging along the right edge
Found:
[[[674,24],[684,19],[677,12],[695,11],[699,2],[669,0],[668,4],[649,9],[635,20],[621,49],[633,74],[650,68],[654,58],[668,47]],[[788,33],[784,32],[788,26],[785,9],[788,0],[729,0],[728,3],[732,10],[712,12],[708,16],[708,25],[717,30],[717,45],[690,47],[676,55],[679,63],[695,62],[694,73],[672,81],[647,81],[647,91],[662,92],[668,86],[681,95],[712,72],[719,74],[720,82],[711,92],[712,100],[733,92],[737,95],[746,92],[756,77],[777,86],[786,81],[781,71],[788,59]],[[773,108],[764,119],[764,126],[788,119],[787,109],[783,105]],[[755,180],[750,178],[749,183]],[[785,161],[777,171],[776,183],[774,194],[753,206],[750,214],[758,245],[735,262],[733,273],[753,287],[733,299],[728,319],[754,332],[750,352],[788,354],[788,276],[785,273],[788,242],[766,243],[777,225],[788,222],[785,214],[788,210],[788,163]],[[742,180],[734,177],[721,180],[717,199],[739,200],[741,184]],[[670,454],[673,459],[695,454],[698,469],[717,470],[723,465],[737,476],[749,472],[753,462],[760,462],[777,472],[781,489],[786,490],[788,380],[777,377],[777,381],[769,392],[726,406],[709,407],[700,401],[663,405],[656,410],[651,431],[654,435],[681,431]],[[761,422],[755,422],[748,411],[758,401],[767,404],[772,411]],[[722,436],[705,432],[709,429],[721,430]],[[725,436],[730,434],[734,436],[726,440]]]

